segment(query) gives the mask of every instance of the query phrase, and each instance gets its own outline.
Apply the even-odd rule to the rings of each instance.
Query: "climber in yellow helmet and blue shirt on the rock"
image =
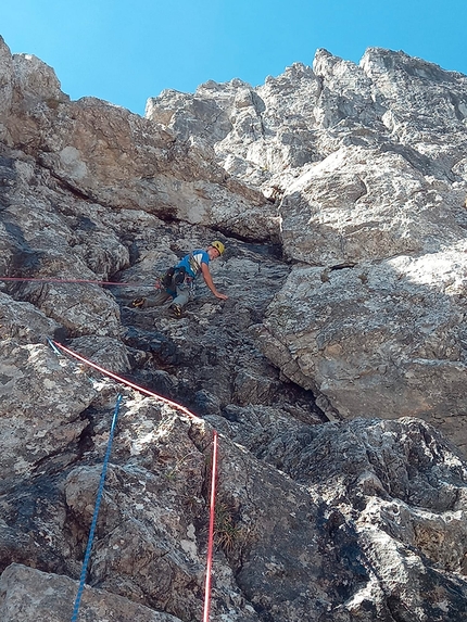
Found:
[[[185,255],[176,266],[166,271],[161,279],[162,289],[156,294],[147,299],[136,299],[131,303],[132,306],[137,308],[161,306],[172,299],[168,308],[175,317],[181,317],[184,307],[193,297],[194,282],[200,275],[216,299],[227,300],[225,294],[217,291],[209,267],[210,262],[219,257],[224,251],[224,244],[215,240],[205,251],[197,249]]]

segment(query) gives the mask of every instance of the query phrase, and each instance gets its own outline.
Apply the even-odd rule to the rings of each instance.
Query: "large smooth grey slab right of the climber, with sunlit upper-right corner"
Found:
[[[465,447],[465,249],[295,268],[267,310],[263,351],[343,417],[417,416]]]

